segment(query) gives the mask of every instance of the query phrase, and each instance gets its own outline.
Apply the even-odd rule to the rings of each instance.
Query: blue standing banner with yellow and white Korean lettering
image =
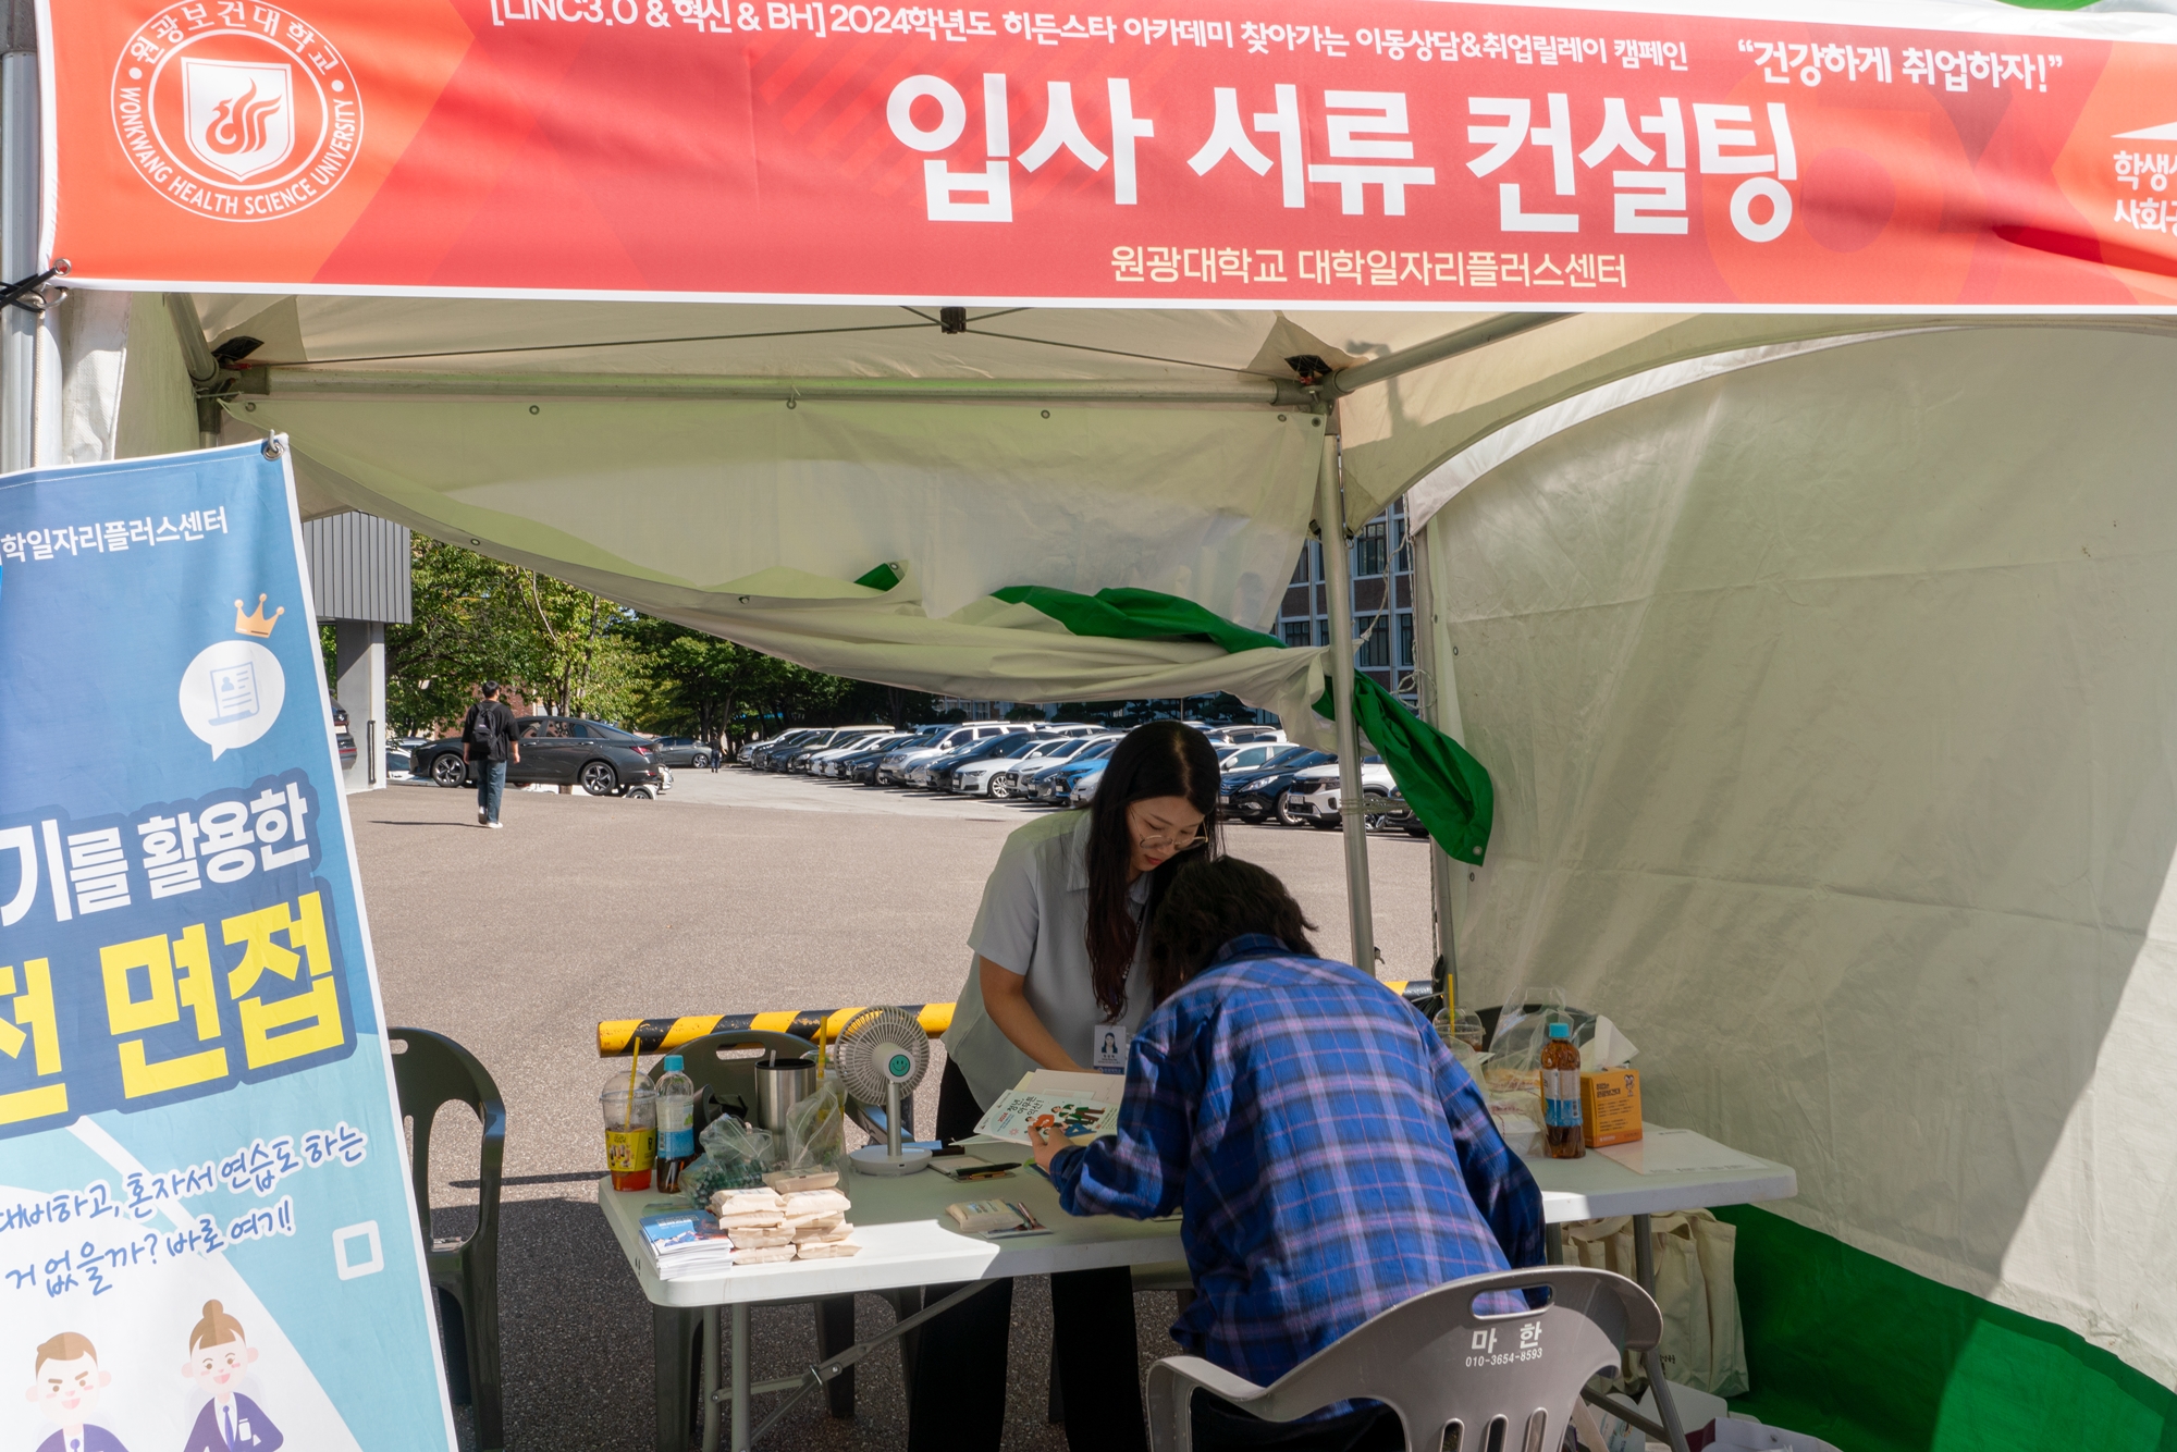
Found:
[[[259,444],[0,477],[0,1452],[453,1448],[300,557]]]

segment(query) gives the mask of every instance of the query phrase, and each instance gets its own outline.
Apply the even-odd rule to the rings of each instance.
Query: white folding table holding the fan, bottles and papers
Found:
[[[973,1145],[982,1158],[1028,1158],[1014,1145]],[[1750,1156],[1748,1156],[1750,1158]],[[1600,1219],[1609,1215],[1633,1215],[1635,1243],[1639,1247],[1641,1284],[1655,1289],[1655,1271],[1648,1250],[1648,1217],[1670,1210],[1698,1210],[1709,1206],[1752,1204],[1759,1199],[1785,1199],[1798,1191],[1798,1178],[1785,1165],[1761,1160],[1761,1169],[1715,1169],[1670,1176],[1639,1176],[1600,1154],[1578,1160],[1526,1158],[1526,1167],[1541,1186],[1541,1215],[1550,1226],[1550,1252],[1557,1258],[1557,1226],[1576,1219]],[[605,1213],[605,1223],[620,1241],[627,1265],[636,1271],[642,1293],[655,1306],[703,1308],[705,1356],[703,1356],[703,1452],[716,1452],[725,1402],[731,1419],[731,1450],[747,1452],[753,1441],[749,1428],[749,1398],[768,1391],[808,1391],[821,1387],[829,1376],[858,1363],[869,1350],[949,1308],[980,1287],[967,1287],[943,1302],[903,1317],[884,1334],[858,1341],[838,1356],[832,1356],[810,1371],[775,1382],[749,1385],[749,1308],[764,1302],[805,1302],[825,1295],[851,1295],[858,1291],[908,1291],[949,1282],[986,1282],[1012,1276],[1049,1276],[1054,1271],[1091,1271],[1106,1267],[1141,1267],[1184,1260],[1180,1250],[1180,1219],[1130,1221],[1115,1215],[1067,1215],[1058,1208],[1058,1191],[1034,1169],[1021,1169],[1008,1180],[980,1180],[956,1184],[934,1171],[912,1176],[860,1176],[849,1173],[840,1189],[853,1199],[849,1219],[856,1226],[856,1241],[862,1254],[845,1260],[788,1260],[784,1265],[740,1265],[723,1276],[701,1280],[660,1280],[657,1260],[642,1241],[642,1217],[653,1210],[686,1208],[681,1197],[651,1191],[614,1191],[610,1178],[596,1186],[596,1204]],[[956,1199],[1019,1199],[1036,1219],[1051,1228],[1049,1234],[1021,1236],[1012,1241],[986,1241],[951,1230],[945,1206]],[[718,1308],[729,1308],[731,1374],[729,1389],[718,1389]],[[1655,1374],[1650,1371],[1655,1378]],[[1659,1408],[1665,1422],[1674,1424],[1676,1413],[1659,1393]],[[773,1413],[773,1419],[784,1406]],[[766,1422],[768,1426],[768,1422]],[[764,1428],[755,1428],[760,1435]],[[1676,1430],[1672,1426],[1670,1430]],[[1683,1448],[1683,1437],[1670,1439]]]

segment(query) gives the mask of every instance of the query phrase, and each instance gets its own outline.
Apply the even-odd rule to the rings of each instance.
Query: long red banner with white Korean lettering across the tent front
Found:
[[[46,22],[74,281],[2177,303],[2177,46],[1424,0],[102,0]]]

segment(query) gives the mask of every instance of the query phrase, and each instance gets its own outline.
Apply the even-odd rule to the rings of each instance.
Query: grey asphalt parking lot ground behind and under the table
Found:
[[[477,827],[475,792],[427,784],[396,782],[348,810],[388,1021],[468,1045],[507,1106],[507,1445],[649,1452],[649,1304],[594,1197],[610,1073],[596,1021],[951,999],[982,882],[1038,808],[727,766],[675,773],[662,801],[507,792],[503,832]],[[1339,834],[1234,825],[1226,849],[1293,888],[1321,951],[1348,951]],[[1426,975],[1426,845],[1372,834],[1369,860],[1385,977]],[[475,1156],[475,1119],[442,1119],[438,1234],[472,1223]],[[1045,1282],[1017,1287],[1006,1445],[1023,1452],[1065,1448],[1043,1415],[1047,1308]],[[1139,1297],[1143,1369],[1178,1350],[1171,1315],[1171,1295]],[[864,1295],[858,1317],[866,1332],[890,1308]],[[755,1313],[758,1378],[805,1367],[814,1348],[805,1306]],[[475,1445],[466,1413],[462,1435]],[[899,1356],[880,1352],[858,1369],[851,1422],[810,1398],[760,1445],[903,1441]]]

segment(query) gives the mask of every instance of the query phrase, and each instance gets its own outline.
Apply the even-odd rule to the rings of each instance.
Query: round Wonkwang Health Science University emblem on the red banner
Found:
[[[355,168],[364,98],[346,59],[279,4],[181,0],[122,48],[113,133],[137,176],[220,222],[272,222]]]

